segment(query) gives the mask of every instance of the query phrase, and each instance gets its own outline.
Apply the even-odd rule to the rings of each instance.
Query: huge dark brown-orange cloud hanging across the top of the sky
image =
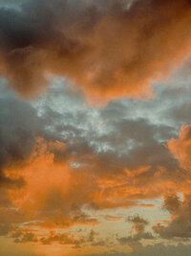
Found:
[[[128,4],[40,0],[2,7],[2,74],[28,97],[44,90],[49,74],[74,81],[90,97],[151,97],[151,81],[165,79],[190,53],[190,2]]]

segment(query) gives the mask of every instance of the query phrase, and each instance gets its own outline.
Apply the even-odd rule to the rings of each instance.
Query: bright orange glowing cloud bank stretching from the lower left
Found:
[[[50,230],[96,225],[98,218],[84,213],[84,207],[91,211],[132,207],[138,204],[138,199],[161,195],[160,184],[145,188],[136,181],[132,183],[128,172],[110,176],[96,174],[89,165],[87,169],[71,168],[73,159],[57,161],[55,151],[64,152],[65,144],[39,138],[30,159],[6,169],[9,177],[22,176],[25,186],[7,190],[7,198],[15,210],[2,208],[0,211],[1,219],[6,220],[2,230],[9,233],[23,226],[25,232],[26,228],[30,232],[34,227]],[[138,170],[135,175],[142,174],[143,170],[147,169]]]

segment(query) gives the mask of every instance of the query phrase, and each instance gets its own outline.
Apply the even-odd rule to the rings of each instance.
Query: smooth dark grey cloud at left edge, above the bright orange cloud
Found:
[[[29,159],[41,126],[35,109],[25,101],[1,90],[0,97],[0,185],[21,188],[21,176],[9,175],[5,169]]]

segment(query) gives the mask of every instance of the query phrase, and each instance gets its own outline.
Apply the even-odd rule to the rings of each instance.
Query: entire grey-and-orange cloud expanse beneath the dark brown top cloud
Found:
[[[175,115],[186,82],[102,107],[58,78],[32,103],[2,89],[0,239],[67,255],[189,239],[190,120]]]

